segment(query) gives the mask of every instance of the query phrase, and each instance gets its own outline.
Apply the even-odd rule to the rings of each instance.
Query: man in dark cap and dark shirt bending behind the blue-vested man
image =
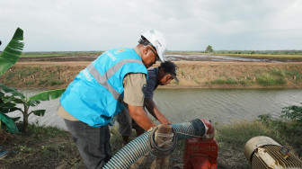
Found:
[[[151,113],[162,124],[170,124],[161,111],[158,110],[155,102],[153,101],[154,91],[158,85],[170,84],[171,80],[176,77],[177,67],[173,62],[165,61],[161,63],[160,67],[154,67],[147,70],[148,80],[146,87],[143,88],[143,93],[145,94],[144,107]],[[131,130],[136,129],[137,136],[144,133],[144,129],[138,126],[135,120],[129,116],[129,110],[124,109],[117,116],[117,121],[119,122],[120,135],[123,138],[123,146],[129,143],[129,136],[131,135]]]

